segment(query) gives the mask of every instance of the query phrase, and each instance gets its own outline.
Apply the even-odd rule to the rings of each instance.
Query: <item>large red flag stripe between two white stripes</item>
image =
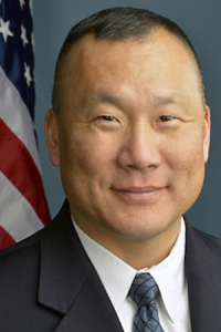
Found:
[[[0,170],[29,200],[44,225],[51,220],[42,178],[23,143],[0,118]]]

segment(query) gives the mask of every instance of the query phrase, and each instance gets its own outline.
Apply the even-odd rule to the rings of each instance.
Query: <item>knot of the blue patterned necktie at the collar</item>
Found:
[[[138,307],[154,304],[158,294],[157,282],[149,273],[136,274],[128,293]]]

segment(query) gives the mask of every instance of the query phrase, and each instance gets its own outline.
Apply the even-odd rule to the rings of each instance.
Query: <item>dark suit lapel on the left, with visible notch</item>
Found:
[[[43,232],[40,270],[39,302],[63,315],[54,332],[123,332],[73,228],[67,203]]]

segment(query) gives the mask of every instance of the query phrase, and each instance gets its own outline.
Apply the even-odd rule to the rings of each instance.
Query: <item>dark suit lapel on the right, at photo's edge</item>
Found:
[[[207,239],[187,222],[186,273],[192,332],[221,331],[221,262]]]

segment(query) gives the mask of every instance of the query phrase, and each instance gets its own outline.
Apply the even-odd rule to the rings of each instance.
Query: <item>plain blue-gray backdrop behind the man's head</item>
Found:
[[[54,64],[70,28],[105,8],[148,8],[177,22],[189,35],[203,70],[212,116],[210,158],[202,193],[187,216],[191,225],[221,237],[221,1],[220,0],[33,0],[36,107],[43,183],[52,217],[63,199],[59,169],[50,163],[44,139],[44,116],[51,107]]]

